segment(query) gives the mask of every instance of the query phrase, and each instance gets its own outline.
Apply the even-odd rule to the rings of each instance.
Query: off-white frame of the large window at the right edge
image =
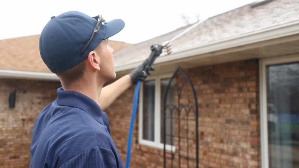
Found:
[[[266,67],[268,65],[276,65],[298,61],[299,54],[260,60],[260,137],[262,168],[269,168]]]

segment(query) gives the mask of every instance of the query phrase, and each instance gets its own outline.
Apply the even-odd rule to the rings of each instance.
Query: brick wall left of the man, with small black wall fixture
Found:
[[[39,112],[56,99],[59,82],[0,79],[0,167],[28,168],[32,129]],[[16,91],[15,108],[9,95]]]

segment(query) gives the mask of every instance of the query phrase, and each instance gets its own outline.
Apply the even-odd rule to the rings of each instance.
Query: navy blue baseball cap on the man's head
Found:
[[[51,17],[39,38],[40,55],[51,72],[64,71],[77,65],[103,39],[115,35],[125,26],[123,20],[114,19],[101,24],[94,38],[91,39],[97,23],[97,19],[78,11],[69,11]],[[89,41],[89,45],[85,48]]]

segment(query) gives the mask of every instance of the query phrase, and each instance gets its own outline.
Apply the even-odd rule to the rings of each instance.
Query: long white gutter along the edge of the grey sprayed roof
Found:
[[[168,62],[176,59],[182,59],[189,56],[210,53],[213,51],[219,51],[223,49],[233,48],[241,45],[248,45],[256,42],[262,42],[270,39],[276,39],[280,37],[290,36],[299,33],[299,21],[290,22],[284,25],[274,26],[251,33],[242,34],[240,36],[227,38],[215,42],[205,43],[199,45],[196,48],[190,48],[185,51],[179,51],[170,55],[158,57],[155,63]],[[130,64],[120,65],[115,67],[116,72],[125,71],[128,69],[136,68],[140,62],[134,62]]]

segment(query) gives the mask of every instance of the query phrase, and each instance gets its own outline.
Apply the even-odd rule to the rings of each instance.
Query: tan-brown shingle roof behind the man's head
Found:
[[[0,40],[0,69],[50,73],[39,54],[39,36]],[[109,40],[109,45],[117,52],[131,44]]]

